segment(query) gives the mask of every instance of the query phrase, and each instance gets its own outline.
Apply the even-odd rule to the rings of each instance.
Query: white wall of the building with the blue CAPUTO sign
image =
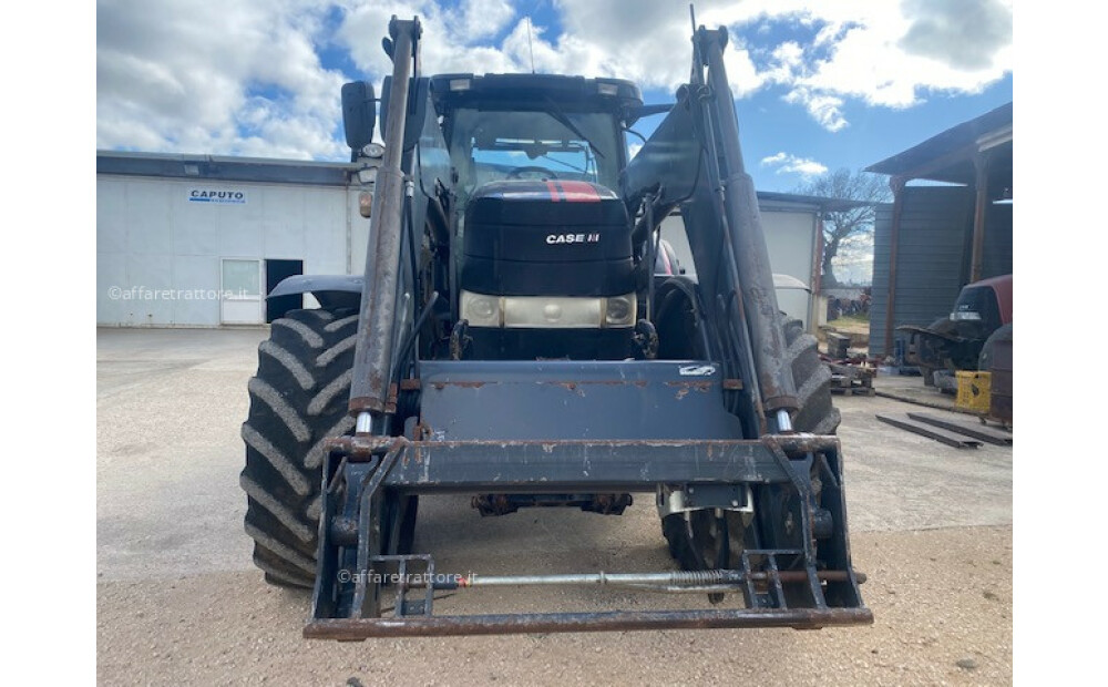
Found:
[[[245,203],[191,202],[194,188],[239,191]],[[345,186],[100,175],[96,321],[218,326],[219,300],[207,296],[220,289],[223,258],[299,259],[305,274],[350,274],[351,223],[368,232],[357,195]]]

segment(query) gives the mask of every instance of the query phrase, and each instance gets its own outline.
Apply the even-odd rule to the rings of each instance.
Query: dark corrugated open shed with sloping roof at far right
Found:
[[[871,356],[948,315],[966,284],[1012,274],[1012,147],[1008,103],[866,167],[893,189],[874,226]]]

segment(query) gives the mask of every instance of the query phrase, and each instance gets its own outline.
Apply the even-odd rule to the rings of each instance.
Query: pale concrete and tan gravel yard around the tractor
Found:
[[[820,632],[667,630],[306,642],[306,593],[249,562],[238,489],[246,380],[263,330],[98,337],[98,674],[105,684],[1008,684],[1012,449],[960,451],[884,425],[916,408],[837,399],[851,543],[876,617]],[[670,565],[648,499],[620,517],[481,519],[424,500],[417,547],[440,571],[633,572]],[[690,607],[599,589],[472,591],[441,613]]]

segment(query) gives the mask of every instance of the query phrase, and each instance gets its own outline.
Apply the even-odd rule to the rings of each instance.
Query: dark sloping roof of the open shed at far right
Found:
[[[974,156],[995,150],[991,176],[1012,178],[1012,103],[963,122],[923,143],[866,167],[866,172],[954,184],[974,182]]]

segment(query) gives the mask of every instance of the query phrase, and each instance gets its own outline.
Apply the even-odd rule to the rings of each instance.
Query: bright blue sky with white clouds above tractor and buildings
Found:
[[[423,21],[428,73],[530,71],[533,59],[668,102],[690,57],[675,0],[228,0],[218,13],[100,0],[96,13],[107,150],[345,160],[339,86],[380,82],[392,14]],[[863,167],[1012,101],[1010,0],[701,0],[697,19],[728,27],[759,189]]]

